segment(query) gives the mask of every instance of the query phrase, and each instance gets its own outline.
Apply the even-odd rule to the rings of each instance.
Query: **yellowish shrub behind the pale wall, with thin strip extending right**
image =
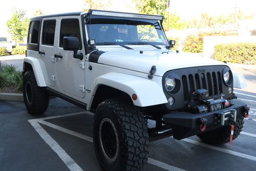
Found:
[[[182,51],[191,53],[203,53],[203,38],[204,36],[234,36],[238,35],[236,32],[200,32],[198,35],[189,35],[183,40]]]

